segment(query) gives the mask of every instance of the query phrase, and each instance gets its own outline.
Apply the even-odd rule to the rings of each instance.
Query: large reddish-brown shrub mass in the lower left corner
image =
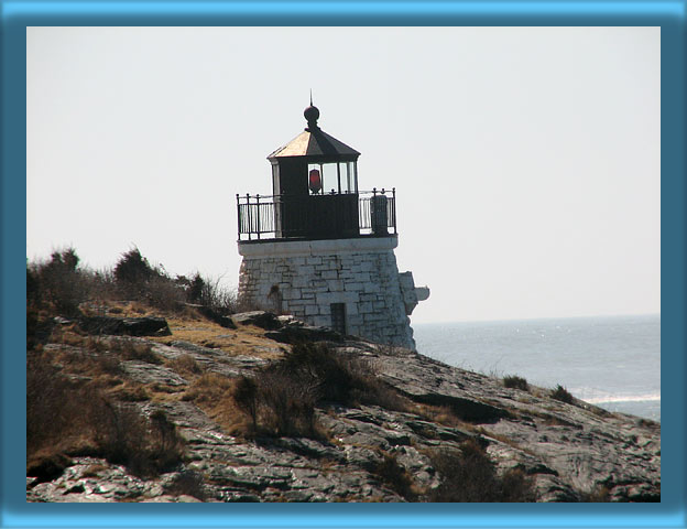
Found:
[[[29,352],[28,468],[42,468],[46,462],[45,473],[51,473],[56,466],[50,462],[61,453],[97,454],[150,476],[178,463],[183,447],[164,413],[146,419],[132,404],[109,400],[95,382],[73,382],[45,355]]]

